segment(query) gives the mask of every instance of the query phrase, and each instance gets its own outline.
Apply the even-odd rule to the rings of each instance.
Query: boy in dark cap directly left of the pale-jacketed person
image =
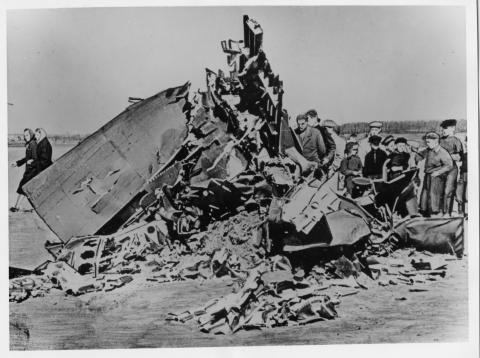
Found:
[[[395,141],[395,150],[388,156],[384,164],[384,180],[391,181],[398,178],[410,167],[410,153],[407,140],[403,137]],[[413,182],[410,183],[399,195],[396,212],[402,217],[418,215],[418,202]]]

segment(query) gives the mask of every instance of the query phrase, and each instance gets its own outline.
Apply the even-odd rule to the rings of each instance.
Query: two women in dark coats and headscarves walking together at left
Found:
[[[23,131],[23,138],[25,140],[25,157],[11,163],[12,167],[25,165],[25,172],[17,188],[17,200],[15,205],[10,208],[12,212],[19,210],[21,199],[25,196],[23,185],[52,164],[52,145],[43,128],[37,128],[35,131],[26,128]]]

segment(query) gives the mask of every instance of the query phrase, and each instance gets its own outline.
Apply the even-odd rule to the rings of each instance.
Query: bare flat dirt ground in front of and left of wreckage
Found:
[[[11,214],[11,262],[40,264],[53,235],[34,213]],[[15,250],[12,251],[12,248]],[[35,266],[35,265],[34,265]],[[19,266],[22,267],[22,266]],[[449,261],[445,279],[409,286],[374,286],[343,297],[339,317],[301,327],[205,334],[193,323],[168,322],[169,312],[201,306],[231,292],[229,280],[151,283],[138,278],[111,292],[63,293],[10,303],[12,350],[460,342],[468,339],[467,258]]]

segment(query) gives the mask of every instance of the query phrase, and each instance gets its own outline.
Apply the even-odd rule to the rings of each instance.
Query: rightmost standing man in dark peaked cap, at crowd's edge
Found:
[[[463,157],[462,141],[455,137],[455,127],[457,121],[455,119],[446,119],[440,124],[442,127],[442,137],[440,138],[440,145],[446,149],[453,159],[453,167],[447,174],[445,181],[445,197],[443,213],[445,216],[451,216],[453,210],[453,200],[457,190],[458,167]]]

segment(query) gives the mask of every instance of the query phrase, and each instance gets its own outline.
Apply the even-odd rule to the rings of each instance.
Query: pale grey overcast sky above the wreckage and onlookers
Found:
[[[227,70],[220,41],[264,30],[284,106],[338,123],[466,117],[461,7],[223,7],[7,13],[9,132],[90,133],[128,106]]]

